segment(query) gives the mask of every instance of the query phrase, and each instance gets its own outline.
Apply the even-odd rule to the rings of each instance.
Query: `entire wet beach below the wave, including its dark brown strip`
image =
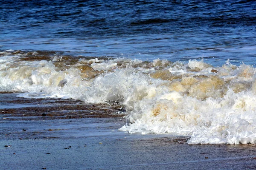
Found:
[[[128,134],[120,105],[16,96],[0,94],[0,169],[256,169],[256,145]]]

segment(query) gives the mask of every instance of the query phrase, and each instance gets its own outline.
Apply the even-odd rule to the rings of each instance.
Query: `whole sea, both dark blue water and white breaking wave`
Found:
[[[253,0],[1,0],[0,100],[120,105],[124,133],[255,144],[255,37]]]

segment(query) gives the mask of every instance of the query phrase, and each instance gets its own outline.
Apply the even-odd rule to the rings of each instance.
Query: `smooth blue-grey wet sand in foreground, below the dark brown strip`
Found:
[[[81,127],[87,119],[92,119],[90,125]],[[102,118],[105,123],[99,125],[96,119],[79,119],[80,126],[75,121],[69,122],[69,126],[64,125],[66,129],[39,133],[36,139],[0,139],[1,167],[7,170],[181,170],[252,169],[256,166],[255,145],[186,144],[184,137],[128,134],[116,129],[117,122],[108,124],[108,118]],[[39,122],[26,124],[45,130],[48,123],[40,125]],[[3,129],[2,123],[1,126]]]

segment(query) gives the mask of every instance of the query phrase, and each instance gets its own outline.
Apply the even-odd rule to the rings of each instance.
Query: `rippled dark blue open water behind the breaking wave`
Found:
[[[1,0],[0,51],[256,64],[253,0]]]

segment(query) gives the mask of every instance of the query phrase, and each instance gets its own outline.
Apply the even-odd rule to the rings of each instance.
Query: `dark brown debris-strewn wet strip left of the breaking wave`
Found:
[[[0,114],[6,120],[48,120],[79,118],[113,118],[125,116],[118,104],[85,104],[73,99],[25,99],[17,94],[0,94]],[[122,112],[122,113],[118,113]]]

